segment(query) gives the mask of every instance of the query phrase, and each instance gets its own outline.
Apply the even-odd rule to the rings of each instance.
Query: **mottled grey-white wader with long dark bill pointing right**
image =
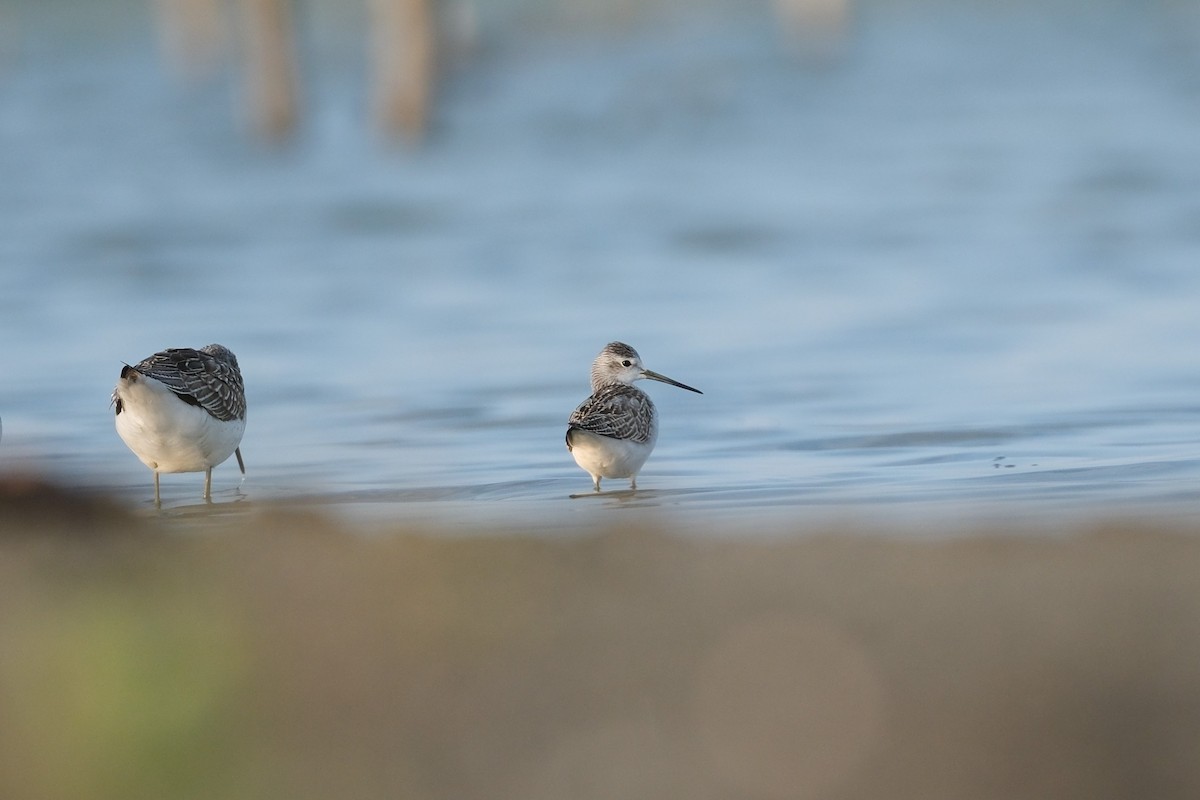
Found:
[[[642,366],[637,350],[622,342],[605,345],[592,362],[592,396],[571,414],[566,449],[592,476],[595,491],[602,477],[628,477],[637,488],[637,473],[659,438],[658,411],[650,396],[634,386],[648,378],[703,395],[678,380]]]

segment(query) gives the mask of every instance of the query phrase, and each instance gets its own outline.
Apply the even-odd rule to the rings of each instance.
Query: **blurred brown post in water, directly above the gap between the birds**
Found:
[[[418,140],[436,68],[433,0],[370,0],[372,115],[389,136]]]

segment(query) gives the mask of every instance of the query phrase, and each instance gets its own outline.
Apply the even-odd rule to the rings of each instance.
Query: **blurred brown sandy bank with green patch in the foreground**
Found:
[[[1200,796],[1195,530],[613,522],[197,523],[10,481],[0,796]]]

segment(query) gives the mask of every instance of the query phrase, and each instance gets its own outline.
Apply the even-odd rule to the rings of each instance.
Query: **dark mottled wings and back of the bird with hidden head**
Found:
[[[224,348],[172,348],[133,366],[161,381],[181,399],[202,407],[217,420],[246,417],[246,392],[238,360]]]

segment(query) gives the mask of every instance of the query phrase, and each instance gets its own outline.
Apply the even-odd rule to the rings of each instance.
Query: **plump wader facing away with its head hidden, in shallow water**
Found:
[[[113,390],[116,433],[154,470],[204,473],[204,499],[212,497],[212,468],[238,456],[246,431],[246,391],[238,357],[226,347],[172,348],[121,368]]]

